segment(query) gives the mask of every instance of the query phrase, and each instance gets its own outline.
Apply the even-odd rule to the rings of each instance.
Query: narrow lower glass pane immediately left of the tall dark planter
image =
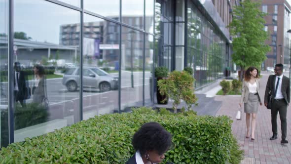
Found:
[[[150,105],[152,103],[152,64],[153,64],[153,36],[146,35],[145,38],[146,46],[145,46],[145,105]]]

